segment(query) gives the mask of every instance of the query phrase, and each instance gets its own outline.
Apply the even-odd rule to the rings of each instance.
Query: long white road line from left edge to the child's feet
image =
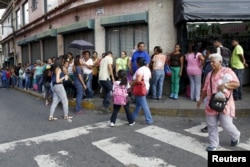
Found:
[[[117,120],[116,126],[121,126],[125,123],[125,121]],[[93,125],[82,126],[70,130],[63,130],[51,134],[0,144],[0,153],[6,153],[7,151],[14,150],[15,147],[18,145],[30,146],[34,144],[40,144],[42,142],[56,142],[68,140],[81,135],[89,134],[91,130],[100,128],[109,128],[109,121],[99,122]]]

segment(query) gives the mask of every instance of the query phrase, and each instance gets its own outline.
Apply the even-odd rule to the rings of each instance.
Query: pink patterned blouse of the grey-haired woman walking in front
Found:
[[[209,104],[209,101],[210,101],[210,98],[211,98],[211,89],[210,89],[210,76],[211,76],[212,72],[209,72],[207,77],[206,77],[206,80],[205,80],[205,84],[204,84],[204,87],[203,87],[203,91],[206,91],[207,92],[207,100],[206,100],[206,108],[205,108],[205,113],[206,115],[217,115],[218,112],[214,111],[213,109],[211,109],[208,104]],[[222,82],[225,74],[227,75],[230,75],[230,80],[229,82],[231,81],[234,81],[234,82],[238,82],[239,83],[239,80],[237,78],[237,76],[235,75],[235,73],[230,69],[230,68],[226,68],[226,67],[222,67],[221,70],[219,70],[219,72],[212,77],[212,92],[213,93],[217,93],[217,88],[218,88],[218,85],[219,83]],[[227,102],[227,105],[223,111],[223,113],[225,115],[229,115],[231,117],[235,117],[235,104],[234,104],[234,100],[233,100],[233,92],[230,90],[230,91],[227,91],[225,93],[226,97],[229,97],[231,93],[231,97],[230,99],[228,100]]]

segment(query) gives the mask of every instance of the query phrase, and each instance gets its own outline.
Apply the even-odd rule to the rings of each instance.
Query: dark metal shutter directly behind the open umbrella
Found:
[[[74,32],[71,34],[65,34],[63,35],[64,39],[64,53],[66,54],[67,52],[71,52],[74,56],[76,55],[81,55],[80,50],[74,49],[74,48],[69,48],[68,45],[73,41],[73,40],[79,40],[83,39],[85,41],[88,41],[92,44],[94,44],[94,32],[93,30],[86,30],[82,32]],[[93,50],[90,50],[91,52]]]

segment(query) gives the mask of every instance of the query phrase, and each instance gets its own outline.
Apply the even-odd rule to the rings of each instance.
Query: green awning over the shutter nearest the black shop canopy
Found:
[[[148,23],[148,12],[101,18],[101,25],[104,27],[138,23]]]

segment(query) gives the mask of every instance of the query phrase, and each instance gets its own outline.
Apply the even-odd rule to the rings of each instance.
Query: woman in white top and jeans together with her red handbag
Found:
[[[137,118],[139,111],[141,108],[144,111],[146,124],[150,125],[153,124],[153,119],[151,116],[150,109],[148,107],[146,96],[149,90],[149,79],[151,78],[151,72],[149,68],[146,66],[146,60],[143,57],[138,57],[136,59],[136,63],[138,69],[136,70],[132,85],[132,93],[135,95],[136,106],[135,110],[132,113],[134,120]]]

